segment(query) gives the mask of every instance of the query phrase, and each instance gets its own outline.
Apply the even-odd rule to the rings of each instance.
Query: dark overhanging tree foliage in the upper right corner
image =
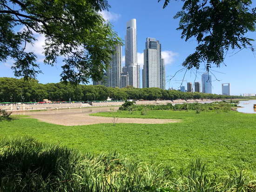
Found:
[[[161,0],[158,0],[160,2]],[[177,30],[185,41],[196,38],[198,46],[182,63],[191,69],[199,69],[204,63],[207,71],[212,65],[219,67],[229,49],[250,48],[254,52],[253,39],[246,33],[256,31],[256,8],[251,0],[182,0],[182,10]],[[165,0],[163,8],[170,0]]]

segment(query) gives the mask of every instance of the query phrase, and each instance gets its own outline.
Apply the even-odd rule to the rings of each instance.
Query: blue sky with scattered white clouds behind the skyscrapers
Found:
[[[174,20],[173,16],[180,10],[182,3],[180,1],[170,1],[166,9],[162,9],[162,3],[157,0],[108,0],[111,8],[109,12],[103,12],[102,15],[108,19],[114,26],[114,30],[124,39],[126,33],[126,22],[130,19],[137,20],[137,43],[138,43],[138,62],[143,66],[143,50],[147,37],[153,37],[162,43],[162,55],[166,60],[166,79],[174,75],[182,68],[183,60],[194,52],[196,41],[194,39],[185,42],[181,39],[181,32],[177,31],[179,20]],[[254,3],[253,7],[256,7]],[[248,37],[256,40],[256,33],[248,33]],[[39,62],[42,61],[41,53],[44,44],[44,38],[38,36],[38,42],[28,49],[38,54]],[[254,42],[256,46],[256,42]],[[235,55],[238,50],[230,50],[226,56],[225,64],[220,68],[213,68],[212,75],[213,93],[221,94],[221,84],[231,83],[231,94],[240,95],[240,93],[256,93],[256,53],[250,50],[243,50]],[[123,47],[124,55],[124,47]],[[233,55],[233,56],[232,56]],[[10,69],[12,60],[8,60],[4,65],[0,65],[0,77],[14,77]],[[40,83],[59,82],[61,73],[61,64],[56,66],[41,65],[44,74],[38,75]],[[201,72],[204,70],[202,69]],[[177,89],[181,85],[184,71],[177,73],[175,78],[167,82],[166,88],[173,87]],[[187,82],[194,82],[194,71],[189,71],[185,75],[183,85]],[[197,74],[195,81],[201,82],[200,73]]]

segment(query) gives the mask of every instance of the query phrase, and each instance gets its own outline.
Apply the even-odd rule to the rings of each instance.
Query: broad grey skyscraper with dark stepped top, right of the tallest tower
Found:
[[[161,44],[155,38],[146,39],[143,66],[143,87],[161,87]]]

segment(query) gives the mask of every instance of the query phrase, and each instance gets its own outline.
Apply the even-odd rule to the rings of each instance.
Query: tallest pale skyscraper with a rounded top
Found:
[[[138,65],[137,62],[137,31],[135,19],[127,22],[125,36],[125,66],[122,68],[122,72],[127,73],[130,86],[140,88],[140,65]]]

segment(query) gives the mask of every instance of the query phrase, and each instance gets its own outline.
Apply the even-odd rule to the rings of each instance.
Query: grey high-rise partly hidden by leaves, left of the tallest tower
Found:
[[[111,56],[109,68],[106,71],[106,86],[121,87],[121,45],[115,46],[115,53]]]

